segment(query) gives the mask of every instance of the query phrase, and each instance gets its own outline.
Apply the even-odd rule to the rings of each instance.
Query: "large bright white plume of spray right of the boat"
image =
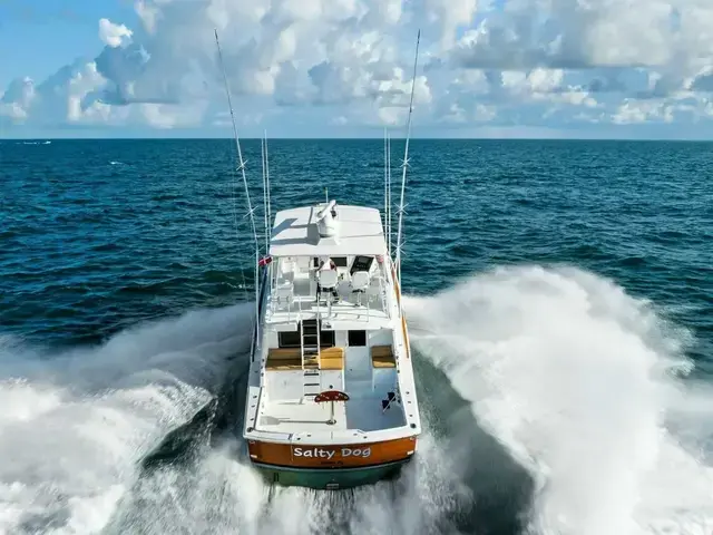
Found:
[[[407,312],[413,343],[536,478],[530,531],[711,533],[711,420],[674,377],[685,333],[647,303],[575,269],[511,268]]]

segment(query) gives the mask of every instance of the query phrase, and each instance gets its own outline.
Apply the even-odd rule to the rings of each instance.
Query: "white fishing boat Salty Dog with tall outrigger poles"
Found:
[[[217,32],[216,43],[219,54]],[[416,50],[414,79],[418,39]],[[401,294],[412,104],[413,89],[393,246],[388,136],[383,213],[325,195],[274,217],[263,139],[261,243],[234,132],[260,281],[242,436],[250,463],[271,484],[325,490],[374,484],[398,475],[417,453],[421,421]]]

